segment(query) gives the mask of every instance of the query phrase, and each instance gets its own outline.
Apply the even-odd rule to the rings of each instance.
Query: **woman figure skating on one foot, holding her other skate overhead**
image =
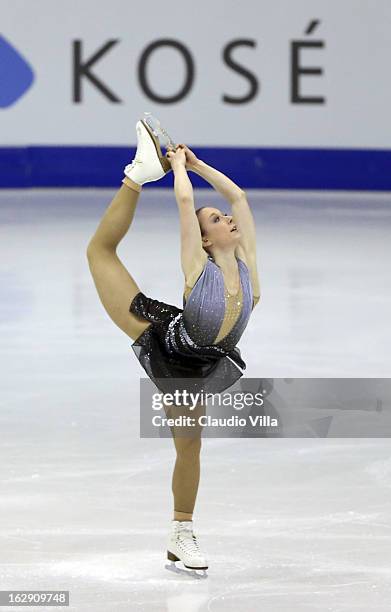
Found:
[[[188,390],[202,383],[205,391],[218,393],[246,367],[236,343],[260,295],[255,226],[246,194],[186,145],[170,148],[164,156],[159,139],[144,121],[137,122],[136,132],[136,156],[126,166],[123,185],[88,245],[91,274],[107,313],[134,340],[141,365],[163,392],[177,389],[182,379]],[[145,296],[116,253],[133,220],[142,185],[171,169],[181,228],[183,310]],[[232,215],[210,206],[196,211],[187,170],[207,180],[230,203]],[[204,570],[207,561],[192,523],[201,436],[184,438],[175,435],[175,428],[172,431],[177,457],[168,558]]]

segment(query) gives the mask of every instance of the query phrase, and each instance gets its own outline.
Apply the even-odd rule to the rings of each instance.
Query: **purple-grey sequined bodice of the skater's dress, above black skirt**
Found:
[[[250,318],[253,292],[246,264],[237,258],[243,304],[231,331],[217,343],[226,350],[233,349],[243,334]],[[183,310],[183,321],[190,338],[199,345],[214,343],[225,315],[224,276],[220,267],[208,257]]]

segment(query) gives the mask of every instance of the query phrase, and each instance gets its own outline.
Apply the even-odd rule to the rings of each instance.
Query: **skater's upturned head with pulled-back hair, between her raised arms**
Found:
[[[198,213],[198,222],[203,234],[203,245],[226,248],[236,246],[239,230],[232,216],[222,213],[218,208],[205,207]]]

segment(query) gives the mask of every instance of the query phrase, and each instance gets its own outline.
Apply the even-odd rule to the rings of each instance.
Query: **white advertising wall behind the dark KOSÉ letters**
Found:
[[[391,147],[390,0],[38,0],[3,2],[0,16],[2,35],[35,72],[29,91],[0,111],[0,146],[124,145],[134,142],[135,121],[149,110],[176,140],[198,145]],[[305,35],[315,19],[320,24]],[[137,78],[141,53],[163,38],[184,44],[195,63],[190,93],[171,104],[149,100]],[[75,39],[83,41],[85,57],[119,41],[93,72],[122,103],[109,102],[86,79],[82,103],[72,101]],[[222,100],[249,91],[248,80],[222,59],[236,39],[255,42],[232,57],[259,83],[257,96],[241,105]],[[301,88],[325,104],[290,100],[294,40],[324,45],[302,51],[302,65],[323,74],[304,76]],[[181,89],[184,75],[177,51],[151,56],[148,80],[161,95]]]

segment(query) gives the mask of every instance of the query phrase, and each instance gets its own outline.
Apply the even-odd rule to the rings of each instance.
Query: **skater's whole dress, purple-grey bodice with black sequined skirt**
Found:
[[[239,258],[237,262],[240,286],[234,297],[228,297],[222,270],[209,256],[183,296],[183,309],[142,292],[132,300],[129,311],[152,323],[132,348],[164,393],[180,388],[220,393],[243,375],[246,364],[236,344],[250,318],[253,291],[246,264]],[[197,380],[189,381],[193,378]],[[171,379],[183,379],[183,385]]]

